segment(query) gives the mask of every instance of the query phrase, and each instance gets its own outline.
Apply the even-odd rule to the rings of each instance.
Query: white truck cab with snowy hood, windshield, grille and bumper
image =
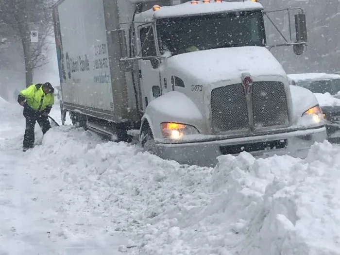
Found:
[[[134,21],[146,109],[140,128],[143,146],[149,142],[148,149],[162,157],[175,155],[169,158],[180,162],[198,153],[203,163],[242,151],[294,155],[293,147],[298,152],[299,144],[306,149],[326,139],[314,95],[291,88],[266,47],[258,2],[154,5]],[[304,93],[306,104],[299,107]],[[296,124],[309,109],[319,119],[302,131]]]

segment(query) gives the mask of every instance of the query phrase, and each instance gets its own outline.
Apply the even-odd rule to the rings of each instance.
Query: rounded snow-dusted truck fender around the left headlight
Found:
[[[163,139],[160,123],[184,123],[200,130],[203,115],[189,97],[181,92],[171,91],[150,102],[142,117],[139,134],[145,121],[148,121],[153,137]]]

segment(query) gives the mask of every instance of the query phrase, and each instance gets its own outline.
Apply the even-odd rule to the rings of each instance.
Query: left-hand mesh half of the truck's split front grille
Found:
[[[249,128],[247,103],[241,84],[211,91],[211,118],[215,132]]]

